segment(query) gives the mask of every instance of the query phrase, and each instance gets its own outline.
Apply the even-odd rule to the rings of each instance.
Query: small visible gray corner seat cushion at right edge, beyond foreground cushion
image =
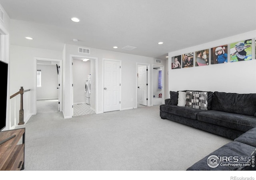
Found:
[[[235,141],[254,146],[256,148],[256,128],[252,128],[235,139]]]

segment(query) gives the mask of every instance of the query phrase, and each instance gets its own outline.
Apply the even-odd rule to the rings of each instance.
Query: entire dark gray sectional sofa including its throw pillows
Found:
[[[234,140],[187,170],[256,170],[256,94],[170,91],[160,117]]]

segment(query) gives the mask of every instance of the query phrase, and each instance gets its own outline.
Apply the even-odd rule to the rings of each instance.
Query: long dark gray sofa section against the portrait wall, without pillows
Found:
[[[202,92],[202,91],[182,91]],[[160,117],[230,139],[256,127],[256,94],[207,92],[207,110],[178,106],[179,92],[160,105]]]

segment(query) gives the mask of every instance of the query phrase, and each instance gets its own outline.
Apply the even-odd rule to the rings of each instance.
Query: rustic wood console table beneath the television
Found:
[[[5,140],[0,144],[0,170],[23,170],[25,128],[1,131],[0,142]]]

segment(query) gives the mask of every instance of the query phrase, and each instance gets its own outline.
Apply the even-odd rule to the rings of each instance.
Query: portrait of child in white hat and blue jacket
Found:
[[[228,62],[228,45],[211,48],[211,64],[222,64]]]

